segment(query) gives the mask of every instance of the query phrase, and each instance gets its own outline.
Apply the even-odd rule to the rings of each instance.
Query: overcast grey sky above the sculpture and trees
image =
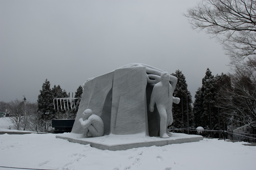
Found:
[[[1,0],[0,101],[36,102],[47,78],[76,92],[129,63],[179,69],[194,97],[209,68],[227,73],[215,39],[182,13],[198,0]]]

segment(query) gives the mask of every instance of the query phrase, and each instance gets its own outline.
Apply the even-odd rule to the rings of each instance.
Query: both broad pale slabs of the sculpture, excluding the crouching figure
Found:
[[[116,69],[84,83],[72,133],[83,133],[79,119],[85,109],[102,118],[104,134],[148,135],[145,66]]]

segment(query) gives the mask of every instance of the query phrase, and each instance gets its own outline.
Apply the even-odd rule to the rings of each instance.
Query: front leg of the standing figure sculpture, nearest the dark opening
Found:
[[[166,134],[167,128],[167,113],[164,107],[157,107],[157,110],[160,115],[160,138],[169,138],[169,135]]]

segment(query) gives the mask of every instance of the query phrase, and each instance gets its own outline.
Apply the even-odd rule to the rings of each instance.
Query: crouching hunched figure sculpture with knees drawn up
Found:
[[[79,119],[84,133],[77,138],[99,137],[104,135],[104,123],[102,119],[92,113],[91,109],[83,112],[83,118]]]

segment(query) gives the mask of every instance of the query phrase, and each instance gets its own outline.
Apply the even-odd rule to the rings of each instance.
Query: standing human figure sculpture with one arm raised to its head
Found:
[[[149,111],[153,112],[154,104],[156,104],[160,115],[160,138],[169,138],[171,136],[167,127],[173,122],[172,103],[178,104],[180,102],[180,98],[172,96],[176,84],[177,78],[175,76],[169,75],[168,72],[163,72],[161,81],[154,85],[151,94]]]

